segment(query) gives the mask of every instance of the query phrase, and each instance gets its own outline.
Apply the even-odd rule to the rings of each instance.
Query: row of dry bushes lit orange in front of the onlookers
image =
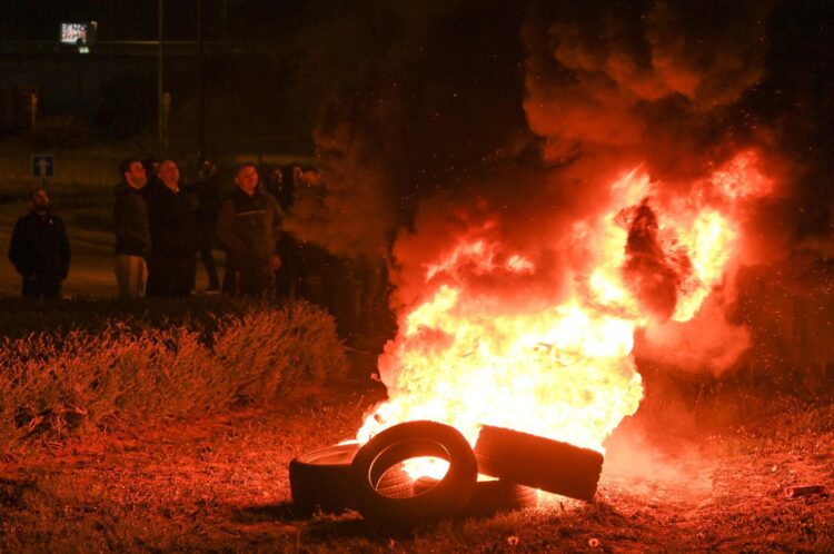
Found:
[[[137,332],[110,324],[91,333],[31,334],[0,343],[0,449],[87,428],[186,417],[344,377],[332,318],[309,304],[254,306]]]

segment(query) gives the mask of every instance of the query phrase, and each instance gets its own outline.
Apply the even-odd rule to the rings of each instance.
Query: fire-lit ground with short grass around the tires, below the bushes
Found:
[[[833,552],[830,393],[649,387],[607,444],[594,503],[542,494],[537,508],[397,535],[356,513],[292,512],[288,463],[349,438],[384,396],[355,379],[7,456],[0,552]],[[786,497],[807,484],[827,493]]]

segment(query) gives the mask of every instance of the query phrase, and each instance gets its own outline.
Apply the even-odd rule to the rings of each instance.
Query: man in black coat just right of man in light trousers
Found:
[[[162,161],[157,176],[159,182],[149,186],[147,196],[151,237],[148,296],[188,296],[197,268],[191,201],[179,186],[177,164]]]

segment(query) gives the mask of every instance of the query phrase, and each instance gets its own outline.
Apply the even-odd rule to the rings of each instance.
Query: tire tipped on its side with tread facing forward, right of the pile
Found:
[[[603,471],[596,451],[489,425],[480,429],[475,457],[484,475],[588,502]]]

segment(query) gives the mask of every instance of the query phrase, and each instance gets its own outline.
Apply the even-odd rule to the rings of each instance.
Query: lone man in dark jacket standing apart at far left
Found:
[[[23,297],[59,298],[70,265],[67,229],[50,214],[44,189],[34,190],[29,204],[32,211],[18,219],[11,234],[9,259],[23,277]]]

